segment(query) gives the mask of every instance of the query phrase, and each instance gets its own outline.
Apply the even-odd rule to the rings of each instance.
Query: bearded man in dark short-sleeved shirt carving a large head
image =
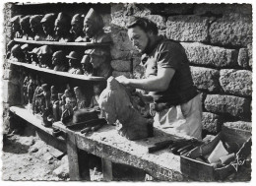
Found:
[[[158,35],[157,25],[145,18],[135,18],[128,26],[128,36],[144,54],[146,79],[117,80],[125,86],[150,92],[144,100],[154,102],[154,125],[166,132],[201,139],[202,105],[193,86],[184,48],[176,41]]]

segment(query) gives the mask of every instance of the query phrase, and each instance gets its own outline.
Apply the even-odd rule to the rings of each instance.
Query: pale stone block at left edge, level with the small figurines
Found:
[[[21,88],[8,80],[3,80],[3,102],[17,105],[21,101]]]

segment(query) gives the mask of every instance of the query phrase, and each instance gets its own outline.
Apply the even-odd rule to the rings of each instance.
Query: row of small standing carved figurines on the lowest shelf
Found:
[[[43,119],[45,126],[51,126],[53,122],[62,121],[68,123],[74,113],[84,108],[98,109],[98,96],[101,93],[99,85],[94,86],[94,96],[88,100],[80,87],[71,89],[68,85],[64,93],[60,93],[55,86],[45,83],[43,77],[33,78],[28,75],[23,83],[24,104]]]

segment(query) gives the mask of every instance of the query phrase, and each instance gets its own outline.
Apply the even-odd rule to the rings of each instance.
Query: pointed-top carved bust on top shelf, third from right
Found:
[[[60,42],[69,42],[72,41],[72,37],[70,34],[70,17],[63,12],[58,14],[57,19],[54,23],[54,34],[55,40],[58,40]]]

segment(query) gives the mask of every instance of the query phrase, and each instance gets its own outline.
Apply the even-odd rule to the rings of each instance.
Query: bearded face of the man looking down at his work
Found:
[[[128,29],[128,36],[136,49],[140,53],[144,53],[150,41],[149,33],[136,26]]]

